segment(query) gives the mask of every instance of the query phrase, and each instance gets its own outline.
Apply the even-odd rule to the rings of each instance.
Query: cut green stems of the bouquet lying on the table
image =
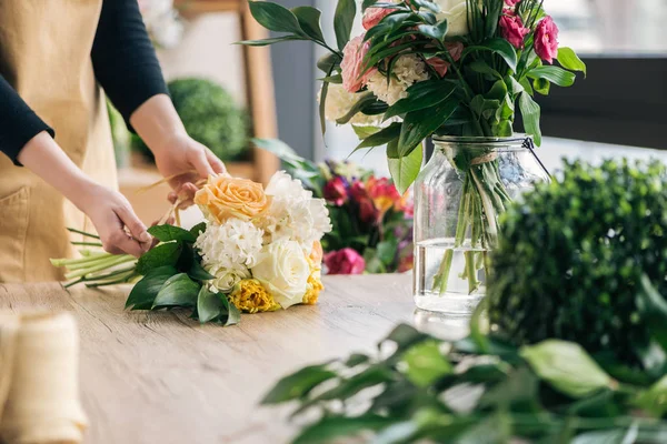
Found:
[[[102,248],[100,238],[84,231],[68,229],[72,233],[81,234],[94,241],[72,242],[77,246]],[[130,254],[111,254],[99,250],[80,250],[83,258],[79,259],[51,259],[54,266],[64,266],[64,278],[70,281],[64,287],[84,283],[89,287],[116,285],[132,282],[140,274],[137,273],[137,258]]]

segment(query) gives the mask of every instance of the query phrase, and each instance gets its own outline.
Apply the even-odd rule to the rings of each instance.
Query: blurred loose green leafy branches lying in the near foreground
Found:
[[[666,379],[649,387],[614,381],[570,342],[488,347],[500,355],[475,354],[470,343],[402,324],[379,344],[380,356],[307,366],[262,403],[295,403],[292,417],[310,421],[295,443],[606,444],[667,436],[667,422],[658,420],[667,412]]]

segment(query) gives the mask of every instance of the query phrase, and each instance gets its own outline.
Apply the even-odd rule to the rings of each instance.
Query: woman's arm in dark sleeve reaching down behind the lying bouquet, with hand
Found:
[[[102,3],[92,48],[96,77],[104,92],[156,155],[163,176],[183,174],[170,184],[176,190],[225,165],[201,143],[191,139],[178,117],[155,49],[146,31],[137,0]]]

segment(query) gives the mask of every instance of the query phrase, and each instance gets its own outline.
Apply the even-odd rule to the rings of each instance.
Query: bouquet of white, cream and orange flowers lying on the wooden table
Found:
[[[323,200],[278,172],[266,190],[246,179],[210,176],[195,203],[206,221],[189,231],[170,224],[150,228],[160,243],[139,260],[84,250],[82,259],[51,262],[68,269],[68,285],[139,280],[127,307],[187,307],[201,323],[227,325],[238,322],[239,312],[317,302],[323,289],[320,239],[331,230]]]

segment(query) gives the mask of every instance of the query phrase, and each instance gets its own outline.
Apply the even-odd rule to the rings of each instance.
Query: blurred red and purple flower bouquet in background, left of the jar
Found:
[[[279,140],[255,144],[277,154],[290,174],[326,200],[334,226],[322,239],[328,274],[412,269],[412,200],[390,179],[348,161],[308,161]]]

